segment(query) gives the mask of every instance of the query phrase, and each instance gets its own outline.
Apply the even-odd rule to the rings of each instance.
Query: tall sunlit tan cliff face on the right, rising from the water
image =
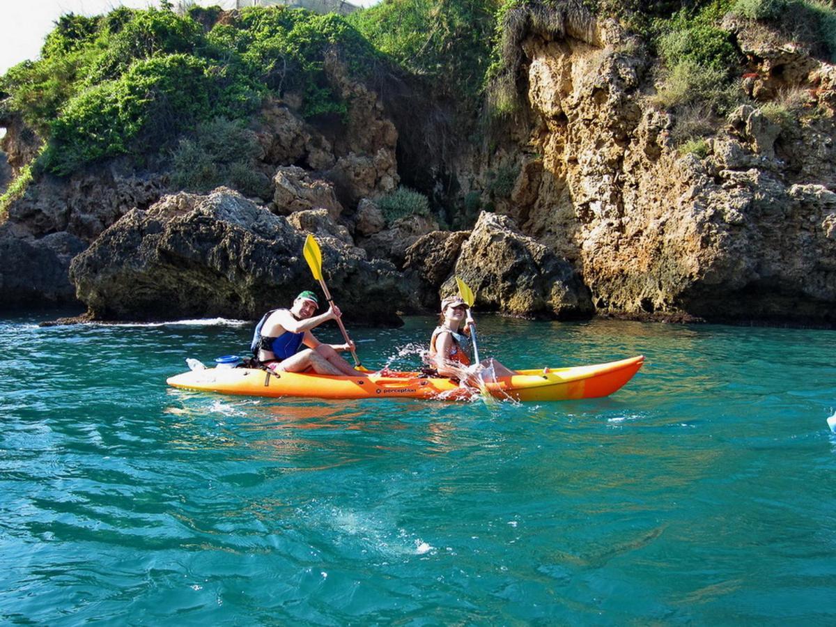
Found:
[[[833,118],[779,129],[742,107],[705,158],[681,156],[671,130],[683,120],[645,97],[647,59],[614,33],[600,46],[531,27],[520,68],[532,115],[509,135],[542,171],[523,161],[503,211],[582,273],[602,314],[836,324]],[[770,57],[793,62],[788,74],[770,66],[772,87],[803,87],[813,68],[823,84],[802,56]]]

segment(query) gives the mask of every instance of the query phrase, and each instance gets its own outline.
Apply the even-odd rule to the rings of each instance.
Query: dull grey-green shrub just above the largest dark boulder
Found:
[[[255,134],[240,121],[216,118],[201,123],[174,151],[171,182],[188,191],[224,185],[245,196],[267,197],[268,176],[254,167],[260,150]]]

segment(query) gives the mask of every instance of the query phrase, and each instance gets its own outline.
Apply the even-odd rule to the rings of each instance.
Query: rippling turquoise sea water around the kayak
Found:
[[[510,365],[647,363],[485,405],[172,390],[250,327],[37,319],[0,319],[0,623],[836,621],[832,331],[486,317]],[[414,367],[433,325],[353,334]]]

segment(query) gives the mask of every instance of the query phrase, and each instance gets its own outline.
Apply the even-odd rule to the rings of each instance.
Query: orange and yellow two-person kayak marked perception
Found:
[[[539,370],[487,382],[492,396],[513,400],[573,400],[606,396],[633,378],[645,357],[607,364]],[[170,377],[168,385],[186,390],[246,396],[299,396],[320,399],[415,398],[468,400],[472,388],[456,380],[427,377],[419,372],[372,373],[369,377],[267,372],[251,368],[208,368]]]

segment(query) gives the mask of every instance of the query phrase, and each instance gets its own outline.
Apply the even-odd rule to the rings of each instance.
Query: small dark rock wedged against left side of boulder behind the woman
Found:
[[[406,250],[404,270],[417,284],[416,298],[425,309],[436,311],[441,285],[450,278],[461,245],[470,231],[434,231],[419,237]]]

